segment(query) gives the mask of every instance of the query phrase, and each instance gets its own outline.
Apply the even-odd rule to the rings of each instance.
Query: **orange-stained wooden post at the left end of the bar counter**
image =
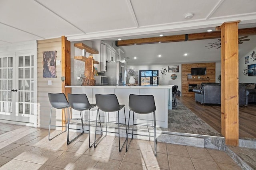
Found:
[[[71,88],[65,88],[65,86],[71,85],[71,73],[70,73],[70,41],[67,40],[67,37],[61,37],[61,80],[62,80],[62,93],[68,97],[68,93],[71,93]],[[66,113],[66,116],[68,113]],[[66,117],[68,118],[68,117]],[[64,111],[62,111],[62,126],[65,126],[67,122],[65,121]],[[62,127],[62,131],[65,130],[65,127]]]

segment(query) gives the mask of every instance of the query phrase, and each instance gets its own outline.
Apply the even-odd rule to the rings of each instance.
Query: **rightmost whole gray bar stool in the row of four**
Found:
[[[130,146],[130,143],[133,139],[134,132],[134,112],[138,114],[148,114],[153,113],[154,115],[154,145],[155,145],[155,156],[156,156],[156,105],[153,95],[136,95],[136,94],[130,94],[129,96],[129,119],[128,119],[128,129],[127,129],[127,143],[126,143],[126,152],[128,151],[128,147]],[[132,138],[130,140],[129,146],[128,146],[128,135],[129,135],[129,125],[130,125],[130,112],[133,111],[133,117],[132,117]],[[148,136],[149,135],[142,135],[142,136]]]

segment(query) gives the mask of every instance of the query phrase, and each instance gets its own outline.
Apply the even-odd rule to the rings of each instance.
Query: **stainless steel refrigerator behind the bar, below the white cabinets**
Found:
[[[125,64],[118,62],[107,62],[107,69],[104,73],[108,76],[108,85],[125,85]]]

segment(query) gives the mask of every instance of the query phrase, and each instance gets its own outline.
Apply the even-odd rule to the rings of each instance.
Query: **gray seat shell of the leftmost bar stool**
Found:
[[[56,109],[68,108],[68,100],[64,93],[48,93],[48,98],[52,107]]]

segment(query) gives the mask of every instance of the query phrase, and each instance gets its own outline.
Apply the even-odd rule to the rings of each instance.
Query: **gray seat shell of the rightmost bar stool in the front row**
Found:
[[[156,111],[154,96],[130,94],[129,108],[135,113],[152,113],[153,111]]]

